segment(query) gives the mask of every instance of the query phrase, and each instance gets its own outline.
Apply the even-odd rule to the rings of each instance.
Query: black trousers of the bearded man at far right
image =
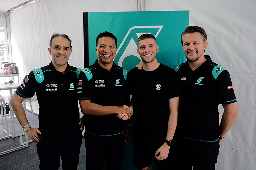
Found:
[[[219,140],[204,142],[186,139],[180,135],[173,138],[174,170],[214,170],[219,154]]]

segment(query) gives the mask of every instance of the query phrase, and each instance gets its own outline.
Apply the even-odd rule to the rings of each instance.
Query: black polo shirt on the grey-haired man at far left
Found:
[[[32,70],[16,93],[23,98],[37,94],[42,138],[59,139],[81,134],[77,103],[79,68],[67,64],[65,74],[49,65]]]

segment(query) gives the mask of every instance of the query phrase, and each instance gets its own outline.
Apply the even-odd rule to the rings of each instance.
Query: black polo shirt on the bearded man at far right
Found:
[[[194,71],[188,61],[174,67],[179,77],[180,101],[176,133],[189,139],[216,141],[219,104],[236,102],[229,72],[210,56]]]

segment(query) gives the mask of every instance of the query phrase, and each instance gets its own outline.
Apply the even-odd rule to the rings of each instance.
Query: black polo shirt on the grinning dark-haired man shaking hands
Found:
[[[102,68],[98,60],[81,71],[78,100],[91,100],[102,106],[122,106],[122,97],[129,98],[126,90],[127,71],[113,62],[110,71]],[[85,131],[94,135],[109,136],[124,132],[124,121],[116,114],[87,118]]]

